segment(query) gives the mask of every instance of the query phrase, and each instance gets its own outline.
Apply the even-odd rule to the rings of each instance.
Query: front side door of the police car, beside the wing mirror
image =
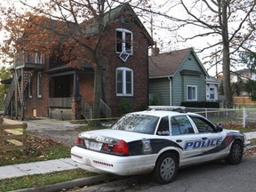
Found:
[[[220,148],[222,140],[225,138],[225,132],[216,132],[214,124],[201,116],[189,116],[198,131],[200,137],[200,148],[202,148],[202,160],[210,161],[213,159],[219,159],[226,156],[228,149],[223,150]],[[198,141],[199,142],[199,141]]]

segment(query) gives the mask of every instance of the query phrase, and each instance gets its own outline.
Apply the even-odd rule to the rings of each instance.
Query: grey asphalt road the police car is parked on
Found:
[[[237,165],[214,162],[183,168],[179,170],[176,180],[166,185],[158,185],[148,175],[140,175],[72,191],[254,192],[256,158],[244,157],[243,162]]]

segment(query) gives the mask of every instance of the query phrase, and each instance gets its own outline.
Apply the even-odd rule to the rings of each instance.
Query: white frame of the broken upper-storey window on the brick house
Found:
[[[133,54],[133,33],[132,31],[126,29],[126,28],[116,28],[116,32],[122,32],[122,51],[121,52],[118,52],[117,51],[117,46],[116,46],[116,53],[126,53],[126,54],[129,54],[129,55],[132,55]],[[127,49],[126,49],[126,45],[125,45],[125,35],[126,34],[131,34],[131,50],[130,52],[127,52]],[[117,44],[117,36],[116,36],[116,44]]]

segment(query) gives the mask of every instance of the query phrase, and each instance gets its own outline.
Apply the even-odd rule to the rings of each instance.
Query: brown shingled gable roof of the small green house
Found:
[[[197,58],[196,52],[194,52],[193,48],[187,48],[173,52],[161,53],[156,56],[150,56],[148,60],[149,78],[175,76],[176,72],[184,60],[188,58],[190,53],[194,54],[205,75],[208,76],[202,63]]]

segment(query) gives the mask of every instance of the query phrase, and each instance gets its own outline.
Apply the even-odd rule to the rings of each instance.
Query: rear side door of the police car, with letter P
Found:
[[[171,132],[172,140],[180,146],[180,166],[201,162],[202,148],[195,145],[200,137],[188,116],[172,116]]]

